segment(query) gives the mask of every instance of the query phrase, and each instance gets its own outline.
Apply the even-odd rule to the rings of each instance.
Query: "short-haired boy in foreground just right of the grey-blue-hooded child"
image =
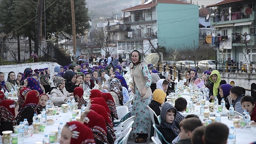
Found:
[[[180,122],[180,140],[176,144],[191,144],[192,132],[198,126],[202,126],[199,118],[186,118]]]

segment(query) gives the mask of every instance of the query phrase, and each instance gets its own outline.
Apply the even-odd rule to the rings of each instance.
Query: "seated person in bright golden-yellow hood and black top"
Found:
[[[157,116],[160,116],[161,114],[161,107],[164,103],[164,99],[166,98],[166,93],[161,89],[156,89],[153,92],[153,100],[151,100],[150,104],[148,106],[154,110]],[[158,119],[156,116],[154,116],[155,123],[159,125]]]

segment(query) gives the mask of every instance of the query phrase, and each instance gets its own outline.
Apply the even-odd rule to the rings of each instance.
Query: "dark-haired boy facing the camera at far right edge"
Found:
[[[252,96],[242,97],[241,104],[242,104],[242,108],[244,110],[247,110],[247,112],[249,112],[251,116],[251,120],[256,122],[256,110],[255,110],[256,102],[254,102],[254,99],[252,98]]]

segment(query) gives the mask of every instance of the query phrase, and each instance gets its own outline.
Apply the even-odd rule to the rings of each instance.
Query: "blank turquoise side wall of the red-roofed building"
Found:
[[[198,5],[162,4],[157,5],[158,43],[164,41],[168,48],[191,48],[193,40],[198,46]]]

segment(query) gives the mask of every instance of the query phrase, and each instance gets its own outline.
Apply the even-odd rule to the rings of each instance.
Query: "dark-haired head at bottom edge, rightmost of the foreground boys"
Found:
[[[204,144],[226,144],[228,140],[228,127],[220,122],[206,126],[202,140]]]

